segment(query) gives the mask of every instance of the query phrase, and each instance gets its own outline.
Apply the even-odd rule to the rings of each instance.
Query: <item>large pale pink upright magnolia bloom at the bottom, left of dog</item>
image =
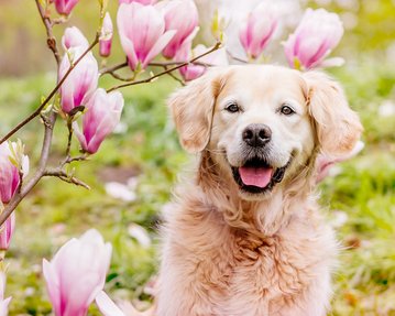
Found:
[[[90,229],[73,238],[51,262],[43,260],[43,274],[55,316],[85,316],[103,288],[110,265],[111,244]]]

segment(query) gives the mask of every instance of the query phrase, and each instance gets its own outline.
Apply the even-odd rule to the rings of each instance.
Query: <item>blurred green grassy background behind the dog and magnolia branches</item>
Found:
[[[329,72],[344,86],[365,128],[363,152],[336,166],[333,176],[319,187],[323,211],[344,246],[331,315],[395,315],[395,1],[321,0],[301,6],[323,7],[341,15],[347,30],[332,55],[344,57],[345,65]],[[92,39],[97,8],[97,1],[81,1],[69,24]],[[110,2],[112,17],[116,10],[117,2]],[[4,134],[39,106],[56,75],[34,1],[0,0],[0,132]],[[62,35],[63,26],[55,33]],[[122,59],[116,48],[107,63]],[[105,87],[113,84],[101,79]],[[42,258],[51,259],[66,240],[90,227],[113,244],[106,290],[113,298],[132,299],[141,307],[147,304],[145,284],[157,270],[160,211],[171,198],[177,174],[190,161],[178,145],[164,103],[177,86],[161,78],[122,91],[125,108],[118,132],[89,162],[73,165],[91,190],[44,178],[19,206],[7,254],[7,296],[13,296],[10,315],[51,313]],[[17,135],[26,144],[32,172],[41,130],[37,121]],[[54,166],[64,154],[66,138],[59,121],[51,156]],[[78,152],[76,143],[73,151]],[[149,241],[135,238],[141,228]],[[95,307],[90,313],[97,314]]]

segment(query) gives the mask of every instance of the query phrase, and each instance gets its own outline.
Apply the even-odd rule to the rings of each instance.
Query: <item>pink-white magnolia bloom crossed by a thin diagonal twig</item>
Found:
[[[84,48],[77,46],[70,48],[62,59],[59,66],[61,80],[68,68],[70,67],[70,55],[73,61],[76,61],[83,55]],[[86,54],[84,58],[77,64],[73,72],[68,75],[66,80],[61,86],[61,106],[65,113],[69,113],[74,108],[85,106],[90,95],[95,91],[98,85],[99,68],[97,61],[91,52]]]

